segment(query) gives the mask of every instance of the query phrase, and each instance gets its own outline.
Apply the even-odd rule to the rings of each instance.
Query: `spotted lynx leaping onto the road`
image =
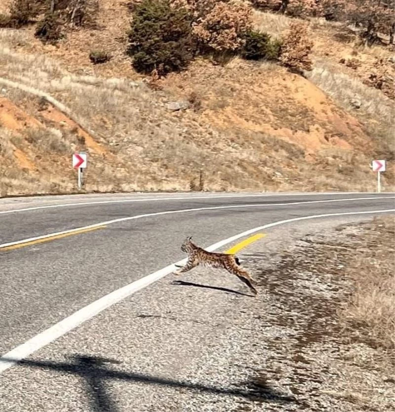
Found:
[[[258,291],[252,285],[255,280],[246,272],[240,268],[240,261],[235,255],[228,255],[226,253],[213,253],[198,247],[192,242],[192,236],[187,237],[181,245],[181,250],[188,254],[188,261],[185,266],[181,267],[174,275],[180,275],[188,272],[198,265],[211,266],[212,268],[223,268],[229,273],[236,275],[243,283],[245,283],[251,291],[256,295]],[[180,268],[180,266],[177,266]]]

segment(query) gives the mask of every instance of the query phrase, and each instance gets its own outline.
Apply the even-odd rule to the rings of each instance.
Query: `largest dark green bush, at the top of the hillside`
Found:
[[[138,72],[159,75],[185,68],[194,56],[191,16],[170,0],[143,0],[133,11],[128,54]]]

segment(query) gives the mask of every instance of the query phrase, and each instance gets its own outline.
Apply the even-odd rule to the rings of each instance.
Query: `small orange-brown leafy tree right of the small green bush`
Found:
[[[281,63],[297,72],[311,70],[313,62],[310,55],[313,45],[307,25],[291,22],[281,46]]]

